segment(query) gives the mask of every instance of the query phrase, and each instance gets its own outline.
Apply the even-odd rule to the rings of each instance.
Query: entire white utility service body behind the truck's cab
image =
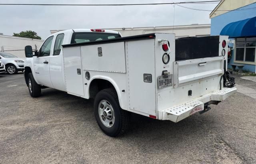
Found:
[[[170,43],[170,62],[168,64],[164,64],[162,61],[162,54],[165,52],[158,41],[162,39],[167,39]],[[220,44],[223,39],[227,40],[228,37],[224,36],[223,38],[221,36]],[[76,79],[80,79],[80,82],[77,85],[72,85],[74,82],[70,85],[67,83],[68,93],[89,98],[92,80],[106,79],[114,85],[122,109],[146,116],[153,115],[157,119],[169,119],[174,122],[188,117],[190,115],[188,112],[195,107],[204,109],[204,103],[211,100],[224,100],[224,97],[218,96],[216,92],[222,91],[219,89],[223,88],[221,76],[224,73],[225,56],[175,61],[174,34],[155,34],[154,39],[97,43],[76,47],[76,51],[73,49],[74,47],[63,48],[64,61],[77,53],[77,60],[82,63],[82,75],[75,75],[76,67],[80,67],[80,65],[74,66],[74,75],[72,75],[72,77],[80,76]],[[80,52],[78,52],[78,47],[80,47]],[[102,48],[102,56],[98,55],[99,47]],[[65,71],[66,67],[65,62]],[[86,71],[90,72],[90,80],[85,78]],[[158,76],[162,75],[162,71],[170,72],[173,80],[171,86],[158,87]],[[71,72],[65,72],[65,74],[71,74]],[[144,82],[144,74],[152,75],[152,82]],[[75,79],[74,77],[72,80],[70,78],[66,76],[66,81]],[[86,85],[82,87],[82,83]],[[78,86],[79,89],[77,89]],[[84,91],[84,95],[73,92],[75,90]],[[188,90],[193,91],[192,96],[188,95]],[[228,92],[225,90],[224,93],[235,90],[228,90]],[[187,105],[186,102],[190,102],[190,105]],[[166,115],[173,115],[170,109],[179,104],[179,108],[181,106],[186,108],[184,113],[180,112],[180,115],[167,117]]]

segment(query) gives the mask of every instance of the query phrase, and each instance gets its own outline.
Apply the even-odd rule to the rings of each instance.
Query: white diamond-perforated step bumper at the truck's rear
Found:
[[[207,95],[198,97],[193,101],[184,102],[173,107],[169,107],[162,111],[158,111],[158,118],[162,120],[170,120],[177,123],[190,115],[193,115],[199,111],[204,110],[204,104],[210,101],[222,101],[225,100],[230,95],[236,93],[236,88],[223,88],[221,90],[216,90]]]

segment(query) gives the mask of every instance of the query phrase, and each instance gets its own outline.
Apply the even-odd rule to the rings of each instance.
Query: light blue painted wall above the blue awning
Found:
[[[221,30],[231,22],[236,22],[239,20],[255,17],[256,16],[255,9],[251,10],[250,8],[256,8],[256,3],[239,8],[240,10],[226,12],[225,14],[212,18],[211,19],[211,35],[219,35]],[[244,10],[244,9],[247,9],[247,10]]]

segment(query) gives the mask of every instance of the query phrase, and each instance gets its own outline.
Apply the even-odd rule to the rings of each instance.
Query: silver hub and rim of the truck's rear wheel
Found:
[[[100,121],[104,126],[111,128],[115,123],[115,113],[112,105],[106,101],[102,100],[98,106],[98,114],[100,116]]]

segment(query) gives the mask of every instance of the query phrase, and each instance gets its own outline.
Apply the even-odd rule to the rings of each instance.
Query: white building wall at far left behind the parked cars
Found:
[[[26,45],[31,45],[33,49],[35,49],[35,45],[37,45],[38,49],[43,41],[44,40],[0,35],[0,51],[11,53],[17,57],[25,57],[24,47]]]

